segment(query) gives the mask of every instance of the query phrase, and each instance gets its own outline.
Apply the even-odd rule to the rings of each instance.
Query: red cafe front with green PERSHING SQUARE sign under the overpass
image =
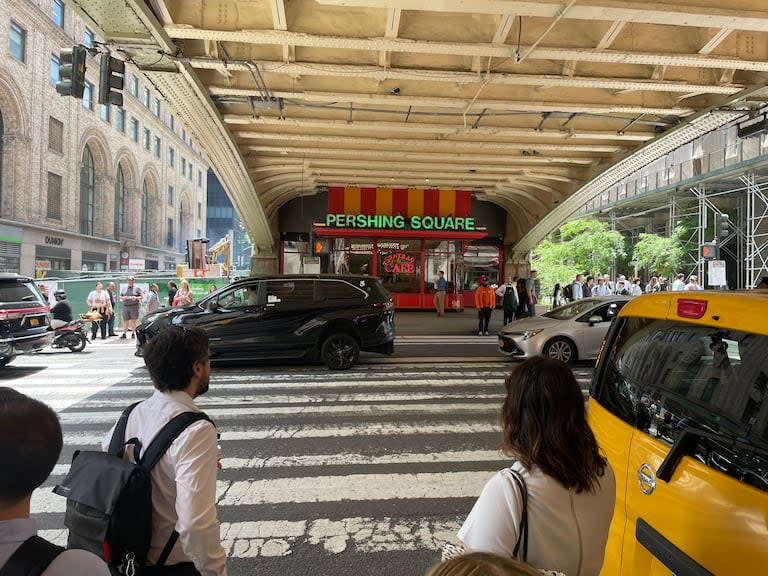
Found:
[[[446,309],[474,307],[480,276],[503,278],[506,213],[467,190],[329,187],[278,218],[281,273],[370,274],[397,308],[433,308],[438,270]]]

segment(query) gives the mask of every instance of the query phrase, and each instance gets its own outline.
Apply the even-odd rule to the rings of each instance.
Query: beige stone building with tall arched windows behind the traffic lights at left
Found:
[[[205,235],[201,150],[126,66],[123,106],[98,104],[98,37],[63,0],[0,0],[0,271],[169,270]],[[83,100],[56,92],[82,44]],[[120,57],[120,55],[116,55]]]

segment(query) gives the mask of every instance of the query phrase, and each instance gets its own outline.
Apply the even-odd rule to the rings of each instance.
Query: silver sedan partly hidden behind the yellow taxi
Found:
[[[628,296],[584,298],[510,322],[499,332],[499,351],[513,358],[549,356],[563,362],[597,358],[611,320]]]

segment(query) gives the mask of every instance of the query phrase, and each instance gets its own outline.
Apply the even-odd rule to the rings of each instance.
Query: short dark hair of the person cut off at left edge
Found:
[[[45,482],[61,446],[56,412],[12,388],[0,388],[0,505],[16,504]]]

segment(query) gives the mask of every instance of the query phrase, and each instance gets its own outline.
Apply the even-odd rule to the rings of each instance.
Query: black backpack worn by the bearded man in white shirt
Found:
[[[121,414],[109,451],[76,451],[67,477],[53,489],[67,498],[67,548],[96,554],[113,574],[140,575],[147,563],[152,537],[152,468],[187,426],[198,420],[211,422],[202,412],[183,412],[171,419],[142,453],[137,438],[125,441],[128,416],[137,405],[131,404]],[[123,459],[129,444],[137,455],[135,464]],[[165,564],[178,537],[174,530],[156,566]]]

